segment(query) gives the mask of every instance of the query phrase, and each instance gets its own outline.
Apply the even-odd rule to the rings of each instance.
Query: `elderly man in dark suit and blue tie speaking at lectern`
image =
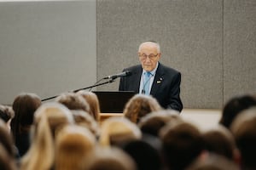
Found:
[[[121,77],[119,91],[134,91],[137,94],[152,95],[165,109],[182,111],[180,99],[181,74],[160,64],[160,45],[157,42],[143,42],[138,48],[141,65],[124,69],[131,71],[130,77]]]

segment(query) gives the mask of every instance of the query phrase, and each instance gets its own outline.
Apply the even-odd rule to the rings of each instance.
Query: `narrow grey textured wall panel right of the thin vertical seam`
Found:
[[[224,103],[256,94],[256,1],[224,0]]]

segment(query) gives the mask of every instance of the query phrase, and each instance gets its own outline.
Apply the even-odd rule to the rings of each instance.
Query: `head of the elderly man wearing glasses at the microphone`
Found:
[[[138,56],[145,71],[153,71],[160,59],[160,52],[154,42],[144,42]]]

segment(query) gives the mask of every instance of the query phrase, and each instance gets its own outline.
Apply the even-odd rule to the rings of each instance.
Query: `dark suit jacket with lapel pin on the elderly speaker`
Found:
[[[138,94],[143,72],[142,66],[131,66],[124,71],[131,71],[131,76],[120,78],[119,91],[134,91]],[[163,108],[182,111],[183,104],[179,97],[180,82],[180,72],[159,63],[150,94]]]

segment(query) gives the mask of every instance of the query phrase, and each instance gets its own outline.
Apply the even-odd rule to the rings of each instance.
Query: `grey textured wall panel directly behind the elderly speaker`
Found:
[[[222,0],[98,0],[98,79],[137,64],[138,45],[155,40],[161,62],[182,73],[184,107],[222,106],[222,7]]]

